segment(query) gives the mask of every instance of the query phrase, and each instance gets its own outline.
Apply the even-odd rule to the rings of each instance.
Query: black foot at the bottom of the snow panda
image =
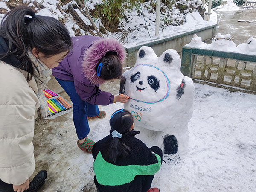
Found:
[[[168,135],[163,139],[165,154],[176,154],[178,152],[178,140],[174,135]]]

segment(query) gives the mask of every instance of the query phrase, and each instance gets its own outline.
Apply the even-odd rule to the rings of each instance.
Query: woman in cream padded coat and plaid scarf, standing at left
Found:
[[[35,15],[25,6],[8,12],[0,26],[0,192],[36,192],[47,172],[35,170],[34,120],[45,118],[42,92],[72,47],[67,29],[56,19]],[[42,177],[42,178],[41,178]]]

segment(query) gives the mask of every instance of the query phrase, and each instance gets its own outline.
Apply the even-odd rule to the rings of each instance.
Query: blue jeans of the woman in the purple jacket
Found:
[[[66,91],[73,103],[73,121],[76,128],[76,134],[79,140],[84,139],[90,132],[87,116],[99,115],[98,105],[92,105],[83,101],[76,93],[74,81],[63,81],[56,78],[61,87]]]

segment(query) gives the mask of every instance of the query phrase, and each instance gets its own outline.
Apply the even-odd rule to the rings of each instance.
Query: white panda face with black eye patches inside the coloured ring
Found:
[[[158,102],[169,93],[169,80],[157,67],[139,64],[129,73],[125,90],[132,99]]]

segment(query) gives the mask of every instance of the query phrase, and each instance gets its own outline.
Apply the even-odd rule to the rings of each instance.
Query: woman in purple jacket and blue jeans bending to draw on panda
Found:
[[[88,120],[106,116],[105,111],[99,111],[97,105],[128,101],[126,96],[114,96],[99,89],[106,81],[122,77],[122,62],[126,53],[122,44],[115,39],[84,35],[72,37],[72,42],[73,51],[58,67],[52,69],[52,75],[73,103],[78,147],[92,153],[94,142],[87,138],[90,132]]]

